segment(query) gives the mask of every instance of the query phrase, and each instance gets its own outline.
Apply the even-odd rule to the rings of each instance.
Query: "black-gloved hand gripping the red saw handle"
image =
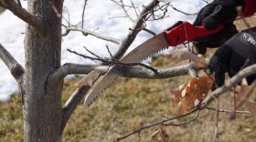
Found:
[[[193,25],[204,25],[208,30],[215,29],[219,25],[225,28],[215,35],[199,37],[195,40],[195,46],[199,54],[204,55],[207,47],[218,47],[226,42],[232,35],[238,33],[236,26],[233,25],[237,17],[237,6],[245,7],[245,0],[214,0],[212,3],[203,7]]]

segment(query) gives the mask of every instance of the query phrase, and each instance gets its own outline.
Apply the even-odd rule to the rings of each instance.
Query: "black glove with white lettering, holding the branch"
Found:
[[[215,73],[217,86],[224,85],[226,72],[229,73],[229,77],[235,76],[247,59],[249,59],[247,66],[256,64],[256,27],[251,30],[253,32],[245,30],[234,35],[211,57],[208,68]],[[256,74],[246,79],[251,85],[256,79]]]

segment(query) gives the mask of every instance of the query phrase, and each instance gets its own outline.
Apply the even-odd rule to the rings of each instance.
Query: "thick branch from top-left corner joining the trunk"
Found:
[[[28,25],[32,25],[37,29],[42,29],[44,27],[44,22],[42,20],[29,14],[26,9],[22,8],[14,0],[0,0],[0,3]]]

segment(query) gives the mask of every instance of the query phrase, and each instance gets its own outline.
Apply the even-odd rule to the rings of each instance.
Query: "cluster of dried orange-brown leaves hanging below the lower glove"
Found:
[[[208,94],[213,84],[212,76],[193,78],[188,84],[171,90],[172,104],[179,106],[178,115],[192,111]]]

